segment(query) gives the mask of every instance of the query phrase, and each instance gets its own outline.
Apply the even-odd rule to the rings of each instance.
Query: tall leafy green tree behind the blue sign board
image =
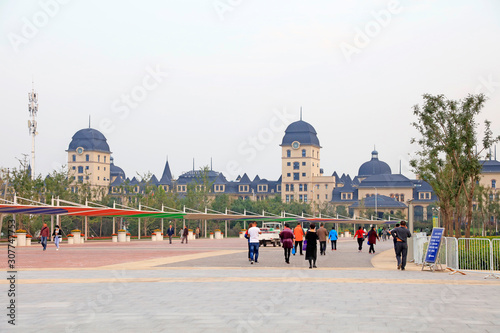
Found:
[[[410,161],[413,171],[427,181],[439,198],[438,205],[448,236],[470,236],[472,206],[476,183],[481,173],[481,154],[499,137],[493,137],[490,122],[485,121],[481,149],[477,138],[476,118],[484,95],[469,95],[455,101],[443,95],[423,96],[422,107],[415,105],[417,121],[412,125],[420,138],[411,140],[420,146],[416,158]]]

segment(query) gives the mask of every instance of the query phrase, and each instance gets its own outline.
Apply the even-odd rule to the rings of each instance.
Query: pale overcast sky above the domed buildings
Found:
[[[425,93],[486,94],[478,120],[500,134],[499,36],[495,0],[2,0],[0,167],[31,152],[34,82],[43,176],[90,118],[130,178],[168,158],[175,178],[212,163],[276,180],[302,108],[326,175],[357,175],[376,147],[413,177]]]

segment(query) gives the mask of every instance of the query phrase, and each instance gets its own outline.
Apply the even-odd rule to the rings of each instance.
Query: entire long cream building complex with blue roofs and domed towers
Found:
[[[282,174],[277,180],[263,179],[258,175],[251,180],[243,174],[229,181],[223,173],[210,169],[206,174],[209,195],[226,194],[232,199],[253,201],[280,196],[284,202],[311,203],[315,207],[344,206],[353,216],[366,215],[370,211],[378,218],[398,212],[408,216],[411,201],[416,221],[430,220],[436,213],[433,207],[437,197],[431,186],[423,180],[392,173],[375,150],[371,159],[363,163],[358,174],[351,178],[348,174],[339,177],[337,172],[325,175],[318,135],[314,127],[303,120],[287,127],[280,146]],[[127,178],[125,172],[114,164],[106,138],[98,130],[85,128],[76,132],[67,153],[72,192],[78,192],[79,185],[84,183],[100,193],[116,197],[144,191],[146,184],[135,177]],[[491,195],[498,197],[500,162],[496,159],[481,162],[480,183],[489,188]],[[191,170],[174,179],[169,161],[166,161],[161,177],[158,179],[153,175],[150,184],[182,196],[190,184],[201,190],[203,177],[203,171]]]

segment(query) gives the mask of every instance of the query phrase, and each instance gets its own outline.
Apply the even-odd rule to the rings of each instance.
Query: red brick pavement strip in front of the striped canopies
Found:
[[[112,264],[142,261],[155,258],[165,258],[179,255],[196,254],[221,249],[245,249],[246,240],[200,239],[181,244],[179,240],[169,244],[167,241],[153,242],[150,240],[131,241],[130,243],[112,243],[111,241],[88,241],[81,245],[63,243],[56,251],[54,243],[49,242],[47,250],[43,251],[40,244],[30,247],[16,247],[16,269],[39,268],[97,268]],[[0,268],[7,268],[7,245],[0,246],[4,252],[4,260]]]

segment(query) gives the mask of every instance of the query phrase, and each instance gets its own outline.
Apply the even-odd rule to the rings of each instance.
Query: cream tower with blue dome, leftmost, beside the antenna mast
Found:
[[[90,127],[81,129],[73,135],[66,152],[71,191],[78,192],[78,184],[86,183],[106,194],[111,181],[111,151],[104,135]]]

